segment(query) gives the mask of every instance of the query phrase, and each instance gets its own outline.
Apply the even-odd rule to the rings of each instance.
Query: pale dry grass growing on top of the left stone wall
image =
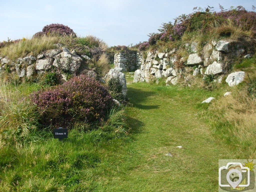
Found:
[[[25,39],[0,49],[1,55],[11,60],[25,57],[28,54],[39,54],[41,51],[54,48],[57,36],[42,36],[38,38]]]

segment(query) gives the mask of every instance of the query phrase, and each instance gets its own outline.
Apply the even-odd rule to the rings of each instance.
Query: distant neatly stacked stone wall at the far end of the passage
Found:
[[[114,56],[115,67],[123,68],[123,71],[135,71],[140,68],[141,62],[143,62],[143,57],[136,51],[119,52]]]

